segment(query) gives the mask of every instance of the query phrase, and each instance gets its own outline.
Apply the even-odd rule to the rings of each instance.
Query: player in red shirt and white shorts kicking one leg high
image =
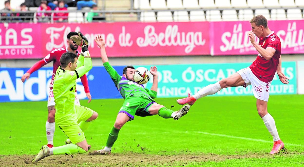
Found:
[[[267,19],[264,16],[257,15],[251,19],[250,23],[252,30],[247,32],[247,35],[252,45],[259,52],[252,65],[215,84],[204,87],[193,96],[189,95],[187,98],[178,99],[177,102],[181,105],[186,103],[193,105],[197,99],[215,94],[223,88],[252,85],[254,97],[257,98],[258,114],[273,137],[274,145],[270,154],[275,154],[284,149],[284,143],[279,138],[275,120],[267,111],[269,88],[275,72],[277,72],[283,84],[289,82],[288,78],[282,73],[280,38],[273,31],[270,31]],[[254,34],[260,38],[259,43],[255,42]]]

